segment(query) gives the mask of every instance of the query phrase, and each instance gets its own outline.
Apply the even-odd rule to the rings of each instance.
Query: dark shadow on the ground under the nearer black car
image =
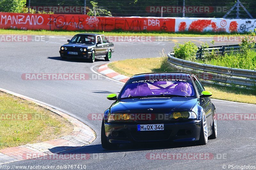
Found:
[[[119,148],[115,150],[105,150],[102,148],[101,144],[98,145],[86,145],[81,147],[54,147],[49,149],[52,153],[56,151],[60,151],[60,148],[65,147],[69,151],[62,153],[73,153],[73,154],[86,154],[86,153],[112,153],[112,152],[129,152],[129,151],[149,151],[149,150],[159,150],[159,149],[172,149],[172,148],[181,148],[181,147],[191,147],[198,146],[196,143],[142,143],[142,144],[128,144],[128,145],[120,145]]]

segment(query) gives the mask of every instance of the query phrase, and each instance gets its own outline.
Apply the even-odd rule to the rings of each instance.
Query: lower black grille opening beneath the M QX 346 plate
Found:
[[[132,137],[137,141],[148,140],[167,140],[170,138],[172,131],[131,131]]]

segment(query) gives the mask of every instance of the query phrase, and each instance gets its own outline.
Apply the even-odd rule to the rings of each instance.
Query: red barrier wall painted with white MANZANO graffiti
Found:
[[[150,17],[90,17],[72,14],[24,14],[0,12],[0,28],[24,30],[175,31],[175,19]]]

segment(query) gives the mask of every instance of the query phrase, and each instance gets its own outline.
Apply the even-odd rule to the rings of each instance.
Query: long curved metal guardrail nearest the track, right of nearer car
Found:
[[[203,83],[234,84],[244,87],[254,87],[256,85],[255,70],[201,64],[175,58],[174,53],[168,54],[168,62],[171,67],[179,71],[197,74]]]

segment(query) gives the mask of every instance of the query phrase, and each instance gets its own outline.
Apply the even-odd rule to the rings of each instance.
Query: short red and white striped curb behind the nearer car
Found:
[[[115,72],[114,70],[108,68],[108,64],[101,65],[100,67],[97,68],[97,71],[100,74],[103,74],[111,79],[116,80],[116,81],[121,81],[121,82],[125,83],[126,81],[129,80],[130,77],[127,77],[123,74],[119,74],[119,73]]]

